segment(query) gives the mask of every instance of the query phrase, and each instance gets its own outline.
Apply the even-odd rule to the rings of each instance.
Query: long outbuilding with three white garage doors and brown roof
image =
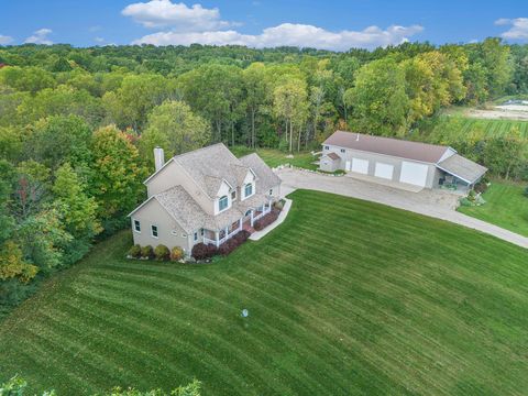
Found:
[[[449,146],[337,131],[322,143],[319,168],[385,180],[459,190],[472,188],[487,168]]]

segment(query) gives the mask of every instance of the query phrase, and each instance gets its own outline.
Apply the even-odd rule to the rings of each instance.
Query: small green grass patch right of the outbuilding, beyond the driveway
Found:
[[[486,204],[480,207],[460,207],[459,211],[528,237],[528,198],[526,186],[493,182],[483,194]]]

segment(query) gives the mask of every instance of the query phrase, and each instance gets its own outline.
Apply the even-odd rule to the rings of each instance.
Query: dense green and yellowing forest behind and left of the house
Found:
[[[211,142],[293,152],[337,129],[438,140],[414,131],[450,105],[527,94],[527,81],[528,46],[497,38],[346,53],[1,47],[0,306],[127,223],[156,145],[168,155]],[[504,158],[510,146],[494,150]]]

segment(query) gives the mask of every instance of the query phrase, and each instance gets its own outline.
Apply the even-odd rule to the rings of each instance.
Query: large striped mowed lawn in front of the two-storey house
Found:
[[[0,324],[0,377],[82,395],[506,395],[528,389],[528,252],[448,222],[299,190],[210,265],[97,245]],[[241,318],[243,308],[249,318]]]

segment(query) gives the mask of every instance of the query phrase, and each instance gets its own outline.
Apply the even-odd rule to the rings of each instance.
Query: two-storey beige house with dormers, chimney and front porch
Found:
[[[280,195],[280,179],[257,154],[237,158],[221,143],[166,163],[156,147],[154,162],[147,199],[129,215],[142,246],[180,246],[187,255],[199,242],[219,246],[253,227]]]

